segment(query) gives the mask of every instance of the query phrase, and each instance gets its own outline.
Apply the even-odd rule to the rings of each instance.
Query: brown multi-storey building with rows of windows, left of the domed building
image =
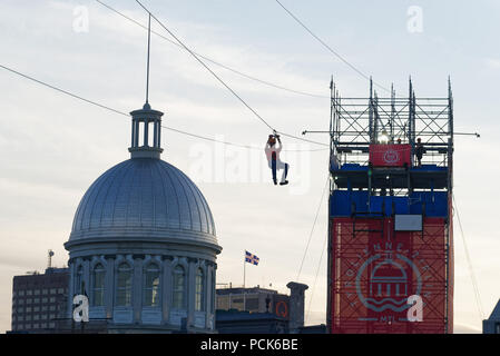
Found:
[[[66,312],[68,268],[47,268],[45,274],[14,276],[12,333],[48,333]]]

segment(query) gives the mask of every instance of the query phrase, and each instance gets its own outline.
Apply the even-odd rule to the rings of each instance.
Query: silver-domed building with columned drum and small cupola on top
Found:
[[[217,244],[196,185],[160,159],[161,116],[130,112],[130,159],[84,195],[65,248],[72,296],[89,299],[108,333],[209,333],[215,325]]]

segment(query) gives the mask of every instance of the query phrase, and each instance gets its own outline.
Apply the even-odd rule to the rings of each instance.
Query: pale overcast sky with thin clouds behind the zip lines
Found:
[[[102,1],[147,22],[133,0]],[[367,95],[366,80],[298,27],[274,0],[144,2],[195,51],[246,75],[320,96],[264,86],[209,63],[278,130],[300,136],[304,129],[327,128],[330,102],[321,96],[329,95],[331,75],[344,97]],[[393,82],[401,95],[412,76],[416,96],[445,96],[451,76],[455,130],[481,134],[481,139],[455,140],[454,194],[488,316],[500,297],[499,191],[494,186],[500,175],[500,2],[282,2],[362,72],[385,87]],[[419,11],[421,23],[413,21]],[[154,30],[168,36],[156,24]],[[144,103],[146,36],[144,29],[94,0],[0,1],[0,65],[126,112]],[[236,149],[163,132],[163,158],[195,180],[213,210],[224,248],[217,260],[218,283],[243,283],[243,251],[247,249],[261,264],[247,266],[246,284],[272,284],[286,291],[286,284],[297,277],[322,197],[327,151],[284,138],[284,149],[292,150],[283,152],[291,164],[291,185],[273,186],[262,152],[269,129],[188,53],[157,36],[151,41],[149,101],[165,112],[164,125],[258,148]],[[12,277],[42,270],[49,248],[56,253],[55,265],[66,265],[62,244],[78,202],[99,175],[128,159],[130,122],[1,68],[0,92],[3,332],[10,329]],[[322,136],[310,138],[327,142]],[[327,228],[325,199],[320,211],[300,276],[300,281],[310,285],[307,324],[325,322],[326,255],[318,267]],[[454,228],[455,330],[480,330],[481,316],[457,221]]]

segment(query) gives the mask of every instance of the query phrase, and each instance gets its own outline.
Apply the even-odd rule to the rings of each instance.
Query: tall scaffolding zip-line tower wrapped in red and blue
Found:
[[[314,131],[308,131],[314,132]],[[320,132],[320,131],[316,131]],[[342,98],[331,82],[327,327],[451,333],[453,97]],[[410,296],[423,320],[408,319]]]

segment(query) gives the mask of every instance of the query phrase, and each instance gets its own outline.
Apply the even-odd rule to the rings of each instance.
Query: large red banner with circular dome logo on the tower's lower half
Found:
[[[332,333],[452,330],[445,220],[425,218],[423,231],[394,231],[393,226],[392,218],[332,220]],[[420,320],[412,320],[415,296]]]

